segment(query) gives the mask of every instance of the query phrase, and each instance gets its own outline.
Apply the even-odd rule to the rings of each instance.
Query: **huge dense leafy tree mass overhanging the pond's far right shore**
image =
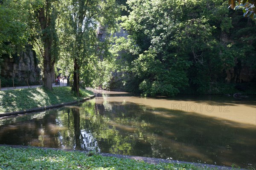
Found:
[[[113,53],[121,55],[117,71],[124,89],[131,89],[127,82],[137,79],[133,86],[144,95],[172,96],[187,87],[215,94],[222,91],[218,84],[225,83],[226,72],[237,60],[255,68],[256,25],[231,18],[227,1],[127,3],[131,12],[120,25],[129,36],[117,38],[113,46]]]

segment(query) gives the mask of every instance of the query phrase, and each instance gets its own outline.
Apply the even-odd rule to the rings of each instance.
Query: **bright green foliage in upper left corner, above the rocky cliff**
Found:
[[[12,54],[19,53],[28,42],[29,32],[26,23],[28,13],[24,1],[0,2],[0,72],[2,55],[9,55],[12,58]]]

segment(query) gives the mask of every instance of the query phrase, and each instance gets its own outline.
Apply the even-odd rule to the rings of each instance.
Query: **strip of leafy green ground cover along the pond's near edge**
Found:
[[[0,147],[0,170],[210,170],[191,164],[148,164],[97,154]]]

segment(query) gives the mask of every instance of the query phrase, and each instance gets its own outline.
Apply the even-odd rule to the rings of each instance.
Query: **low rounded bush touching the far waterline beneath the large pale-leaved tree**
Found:
[[[173,96],[179,92],[179,88],[188,85],[187,79],[184,77],[185,72],[177,67],[183,65],[183,61],[178,61],[173,65],[169,65],[166,69],[165,63],[156,58],[155,52],[145,52],[134,60],[133,72],[140,79],[144,79],[139,85],[143,95],[168,95]],[[171,69],[175,68],[176,69]],[[179,70],[179,71],[178,71]],[[179,84],[173,85],[176,82]]]

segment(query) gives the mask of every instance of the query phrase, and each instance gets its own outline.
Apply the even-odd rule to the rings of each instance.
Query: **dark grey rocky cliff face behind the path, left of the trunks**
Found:
[[[15,78],[18,81],[28,81],[37,83],[39,81],[40,69],[36,59],[35,52],[32,46],[27,46],[24,52],[20,55],[2,56],[3,63],[1,64],[1,77],[6,79]]]

